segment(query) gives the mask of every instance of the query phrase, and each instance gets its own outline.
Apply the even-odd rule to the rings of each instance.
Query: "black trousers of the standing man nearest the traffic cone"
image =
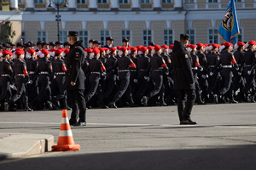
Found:
[[[86,103],[84,99],[84,90],[75,89],[67,90],[72,108],[71,119],[69,122],[77,122],[79,115],[79,122],[86,122]]]

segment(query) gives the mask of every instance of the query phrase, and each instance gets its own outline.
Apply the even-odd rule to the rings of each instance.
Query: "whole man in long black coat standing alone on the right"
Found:
[[[172,48],[172,63],[175,67],[174,88],[178,90],[177,112],[181,125],[196,124],[190,119],[196,95],[191,57],[186,50],[188,44],[189,35],[181,34],[180,41],[175,41]]]

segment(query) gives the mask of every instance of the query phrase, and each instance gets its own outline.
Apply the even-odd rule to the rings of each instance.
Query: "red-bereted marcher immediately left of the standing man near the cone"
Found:
[[[52,59],[51,62],[54,77],[53,83],[55,83],[57,89],[59,89],[59,93],[52,99],[52,101],[60,106],[58,101],[62,99],[63,109],[71,110],[71,108],[67,105],[67,90],[64,89],[65,71],[67,71],[67,67],[61,57],[62,50],[60,48],[56,49],[55,58]]]

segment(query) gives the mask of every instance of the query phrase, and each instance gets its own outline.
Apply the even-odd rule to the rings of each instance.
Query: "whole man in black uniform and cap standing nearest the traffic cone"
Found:
[[[70,99],[72,114],[69,120],[70,125],[86,126],[86,105],[84,100],[84,44],[79,41],[78,31],[68,32],[68,42],[71,44],[70,51],[67,54],[67,71],[65,80],[65,89]],[[79,122],[78,119],[79,111]]]

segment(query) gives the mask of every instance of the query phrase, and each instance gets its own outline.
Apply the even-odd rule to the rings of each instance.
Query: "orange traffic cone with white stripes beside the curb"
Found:
[[[67,118],[67,110],[62,111],[61,129],[58,144],[53,145],[52,151],[80,150],[80,144],[74,144],[73,134]]]

